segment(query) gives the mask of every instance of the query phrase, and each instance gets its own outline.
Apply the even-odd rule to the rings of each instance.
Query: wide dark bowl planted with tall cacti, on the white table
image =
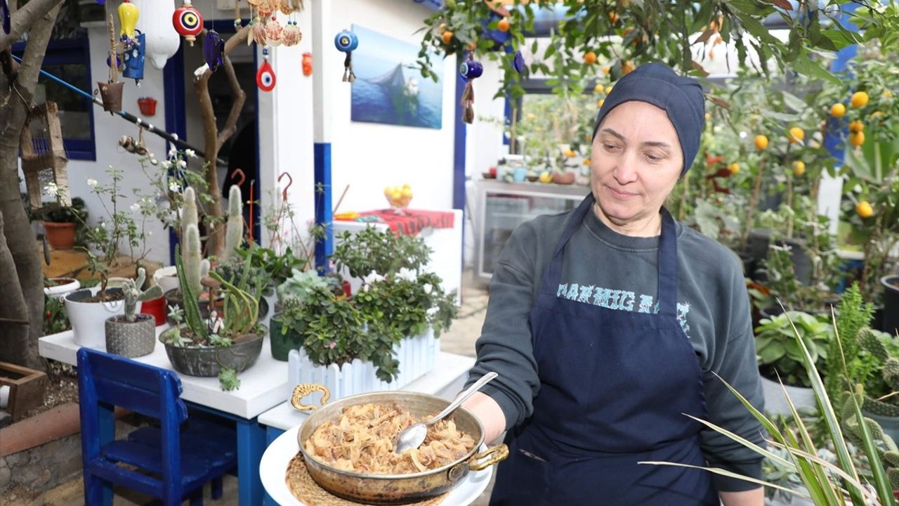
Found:
[[[200,233],[194,225],[188,226],[185,239],[199,248]],[[214,292],[218,288],[224,297],[220,315],[218,309],[212,309],[205,318],[200,314],[200,295],[188,279],[199,276],[199,261],[187,267],[176,247],[175,268],[182,286],[182,307],[172,308],[175,324],[159,336],[169,361],[185,375],[218,375],[222,390],[239,388],[237,373],[253,366],[262,351],[265,332],[258,322],[259,302],[245,289],[249,269],[236,285],[216,273],[211,273],[211,280],[206,278],[204,283],[212,293],[209,300],[217,300]]]

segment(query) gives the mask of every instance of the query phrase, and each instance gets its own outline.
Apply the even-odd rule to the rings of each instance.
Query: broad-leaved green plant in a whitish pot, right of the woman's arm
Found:
[[[770,412],[789,412],[779,381],[783,382],[790,399],[797,406],[814,408],[812,385],[804,374],[802,349],[793,339],[794,325],[815,366],[822,367],[827,359],[833,328],[823,318],[788,311],[762,319],[761,325],[755,329],[755,348],[765,393],[765,409]]]

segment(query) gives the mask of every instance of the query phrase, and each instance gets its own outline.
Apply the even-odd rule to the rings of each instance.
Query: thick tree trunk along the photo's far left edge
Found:
[[[20,317],[27,313],[29,321],[28,326],[4,324],[5,327],[0,328],[3,330],[0,335],[4,336],[0,350],[4,356],[11,357],[11,361],[23,366],[42,367],[38,338],[43,330],[44,283],[40,252],[35,247],[31,221],[25,214],[19,194],[19,136],[31,109],[34,86],[38,82],[59,5],[61,2],[34,22],[22,65],[14,77],[13,89],[0,100],[0,214],[3,215],[4,229],[4,245],[0,246],[0,276],[3,276],[0,293],[4,294],[4,304],[7,297],[12,299],[10,310],[16,313],[13,318],[25,320]],[[18,15],[15,19],[19,19]],[[9,87],[0,89],[8,90]],[[8,265],[10,257],[14,262],[12,269]],[[22,302],[25,312],[22,312]]]

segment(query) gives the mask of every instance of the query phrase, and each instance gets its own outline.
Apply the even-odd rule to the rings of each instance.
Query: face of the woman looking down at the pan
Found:
[[[681,176],[677,131],[653,104],[625,102],[612,109],[592,151],[593,196],[602,214],[618,226],[657,214]]]

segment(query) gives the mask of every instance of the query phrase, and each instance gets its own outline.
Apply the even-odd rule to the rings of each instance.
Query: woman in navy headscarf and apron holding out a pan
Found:
[[[661,64],[622,77],[592,143],[592,192],[512,234],[490,284],[466,402],[487,440],[508,429],[491,504],[761,506],[761,456],[690,414],[762,443],[717,377],[761,407],[739,260],[675,222],[665,198],[699,150],[699,84]]]

